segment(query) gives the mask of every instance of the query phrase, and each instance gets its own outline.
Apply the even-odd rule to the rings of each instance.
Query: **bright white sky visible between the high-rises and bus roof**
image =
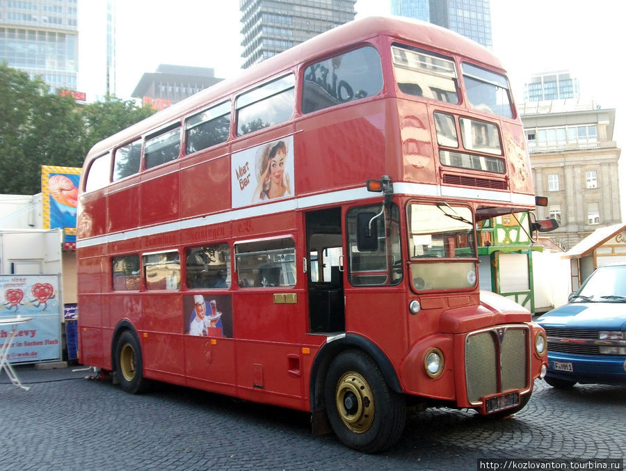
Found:
[[[95,99],[104,84],[94,57],[103,46],[85,46],[90,28],[102,18],[104,0],[79,0],[79,91]],[[386,15],[390,0],[357,0],[357,19]],[[581,95],[604,109],[615,108],[619,147],[623,132],[626,93],[620,77],[626,62],[620,49],[626,43],[623,0],[491,0],[493,52],[509,72],[517,102],[530,74],[570,70],[579,78]],[[99,10],[100,9],[100,10]],[[116,95],[129,99],[141,76],[159,64],[211,67],[215,76],[234,77],[240,71],[241,14],[236,0],[119,0],[117,6]],[[88,27],[83,27],[88,26]],[[617,54],[616,54],[617,53]],[[92,88],[90,90],[90,88]],[[94,90],[95,89],[95,90]]]

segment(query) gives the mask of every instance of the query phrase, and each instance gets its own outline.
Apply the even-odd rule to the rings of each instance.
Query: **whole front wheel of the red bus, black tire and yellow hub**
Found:
[[[345,445],[376,453],[398,441],[406,422],[402,394],[390,390],[367,353],[348,350],[332,360],[324,385],[326,413]]]

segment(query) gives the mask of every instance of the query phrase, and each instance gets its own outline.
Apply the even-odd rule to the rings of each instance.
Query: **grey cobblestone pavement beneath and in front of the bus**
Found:
[[[626,388],[537,381],[506,420],[409,415],[389,452],[314,437],[309,415],[171,385],[132,395],[72,368],[0,374],[1,470],[476,470],[477,458],[624,458]]]

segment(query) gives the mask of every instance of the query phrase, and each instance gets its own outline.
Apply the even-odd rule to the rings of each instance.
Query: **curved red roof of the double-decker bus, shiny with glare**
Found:
[[[88,155],[101,154],[115,145],[128,142],[147,131],[167,125],[179,119],[183,114],[191,113],[202,106],[217,102],[220,98],[226,98],[232,93],[250,88],[297,63],[310,61],[316,56],[326,55],[330,51],[342,49],[380,35],[417,42],[442,53],[472,58],[472,61],[476,63],[490,65],[490,67],[504,72],[504,67],[491,51],[449,29],[405,17],[365,17],[316,35],[314,38],[268,58],[248,70],[242,70],[232,79],[226,79],[214,86],[205,88],[170,106],[170,108],[159,111],[149,118],[105,138],[95,144]]]

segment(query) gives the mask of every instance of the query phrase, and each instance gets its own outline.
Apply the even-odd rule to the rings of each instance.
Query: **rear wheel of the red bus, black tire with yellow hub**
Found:
[[[145,392],[150,382],[143,378],[141,346],[134,332],[125,330],[115,346],[115,367],[122,389],[131,394]]]

